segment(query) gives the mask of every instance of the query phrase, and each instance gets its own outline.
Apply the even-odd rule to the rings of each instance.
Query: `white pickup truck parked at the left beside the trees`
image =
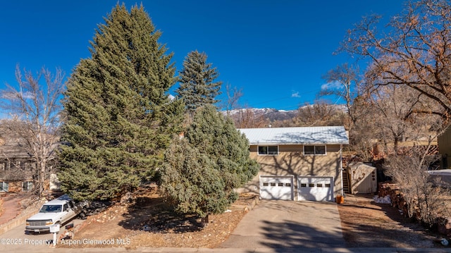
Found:
[[[63,226],[76,216],[85,216],[87,205],[87,202],[75,204],[68,195],[51,200],[42,205],[39,213],[27,218],[25,233],[49,232],[51,226]]]

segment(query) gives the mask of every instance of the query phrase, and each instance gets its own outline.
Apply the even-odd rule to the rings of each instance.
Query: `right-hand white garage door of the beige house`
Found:
[[[297,177],[297,200],[333,201],[333,177]]]

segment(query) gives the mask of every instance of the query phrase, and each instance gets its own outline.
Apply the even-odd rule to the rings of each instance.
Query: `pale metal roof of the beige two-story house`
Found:
[[[343,126],[302,128],[240,128],[251,145],[261,144],[349,144]]]

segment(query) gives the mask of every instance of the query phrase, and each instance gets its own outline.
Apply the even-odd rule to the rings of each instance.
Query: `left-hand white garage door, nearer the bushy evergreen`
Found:
[[[262,199],[293,200],[294,177],[290,176],[260,176],[260,197]]]

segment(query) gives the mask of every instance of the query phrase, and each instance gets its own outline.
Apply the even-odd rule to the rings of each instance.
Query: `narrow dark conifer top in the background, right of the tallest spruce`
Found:
[[[188,112],[193,113],[200,106],[215,104],[216,97],[221,94],[222,82],[214,82],[219,73],[211,63],[206,63],[204,52],[191,51],[185,61],[183,69],[179,71],[180,87],[175,90],[178,97],[185,101]]]

